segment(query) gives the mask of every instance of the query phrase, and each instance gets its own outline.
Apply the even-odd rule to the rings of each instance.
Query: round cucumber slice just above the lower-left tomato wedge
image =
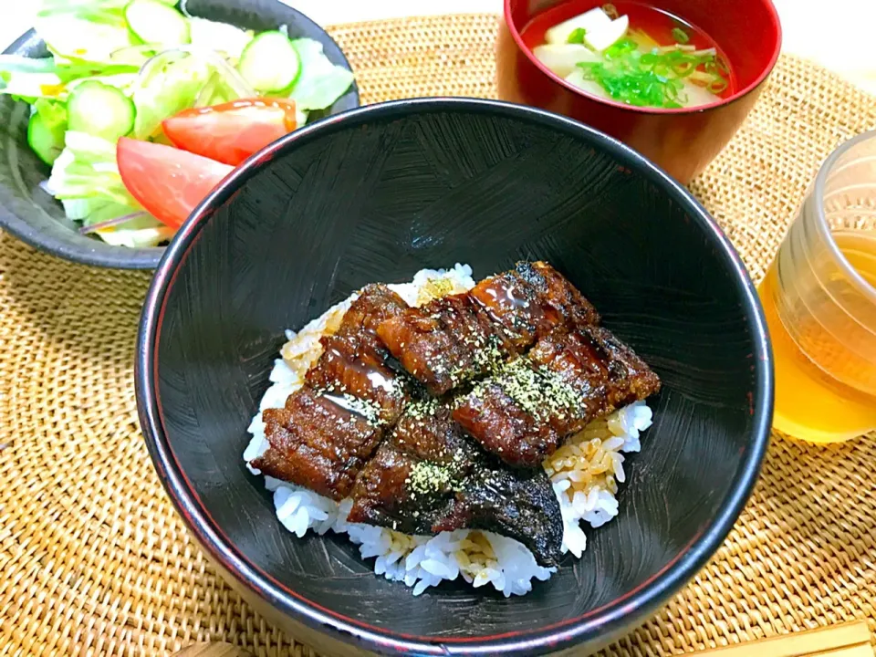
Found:
[[[101,82],[83,82],[67,101],[69,130],[115,141],[134,127],[134,103],[120,89]]]

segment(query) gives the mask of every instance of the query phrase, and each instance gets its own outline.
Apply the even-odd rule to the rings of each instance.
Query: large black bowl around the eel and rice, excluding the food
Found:
[[[345,539],[298,540],[241,460],[285,328],[422,267],[545,259],[663,381],[620,516],[523,598],[419,598]],[[542,110],[402,100],[262,151],[200,206],[141,319],[137,399],[193,536],[257,610],[327,654],[595,650],[721,545],[767,449],[773,374],[755,289],[694,198],[636,152]]]

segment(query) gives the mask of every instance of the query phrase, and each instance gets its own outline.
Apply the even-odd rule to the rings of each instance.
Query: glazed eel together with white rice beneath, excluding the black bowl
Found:
[[[249,427],[277,519],[413,594],[524,595],[618,514],[657,376],[547,263],[370,285],[287,331]]]

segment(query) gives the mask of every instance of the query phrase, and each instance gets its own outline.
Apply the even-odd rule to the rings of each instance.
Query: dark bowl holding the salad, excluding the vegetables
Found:
[[[347,58],[325,30],[278,0],[190,0],[186,8],[193,16],[246,29],[266,30],[286,25],[289,36],[317,40],[332,63],[349,69]],[[33,30],[4,53],[47,57],[46,45]],[[359,107],[359,91],[354,83],[322,114],[337,114],[355,107]],[[112,246],[97,236],[79,235],[78,224],[70,221],[61,204],[39,187],[39,183],[48,178],[50,168],[27,145],[29,116],[26,103],[0,96],[0,228],[65,260],[116,269],[154,269],[164,253],[163,246]],[[312,116],[319,118],[315,112]]]

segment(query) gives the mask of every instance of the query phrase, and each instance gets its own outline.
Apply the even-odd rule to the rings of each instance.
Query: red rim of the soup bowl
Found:
[[[776,9],[776,5],[773,4],[772,0],[760,0],[760,2],[764,3],[764,6],[767,9],[767,13],[769,17],[772,19],[770,21],[770,25],[773,29],[776,30],[776,47],[773,48],[773,53],[769,57],[769,61],[767,62],[767,66],[760,72],[760,74],[754,79],[753,82],[746,85],[745,88],[739,89],[735,93],[727,96],[726,98],[716,100],[714,102],[709,103],[708,105],[697,105],[692,108],[652,108],[652,107],[639,107],[636,105],[626,105],[624,103],[617,102],[616,100],[603,99],[599,96],[594,96],[593,94],[588,93],[584,89],[579,89],[573,84],[568,83],[563,78],[560,78],[556,73],[554,73],[550,68],[547,68],[544,64],[538,61],[537,57],[533,54],[532,50],[527,47],[527,45],[523,42],[523,37],[520,36],[520,30],[517,29],[516,23],[511,16],[511,3],[514,0],[504,0],[503,2],[503,12],[502,12],[502,20],[505,23],[505,26],[508,29],[508,32],[511,34],[511,37],[514,39],[516,43],[517,49],[522,52],[527,59],[542,73],[544,73],[547,78],[549,78],[552,82],[558,84],[560,87],[564,89],[568,89],[572,93],[588,99],[593,102],[600,103],[610,108],[615,108],[616,110],[624,110],[629,111],[632,114],[654,114],[654,115],[662,115],[662,114],[695,114],[697,112],[703,112],[708,110],[714,110],[716,108],[724,107],[725,105],[729,105],[735,102],[738,99],[744,98],[752,91],[757,89],[760,84],[767,79],[767,76],[772,72],[773,68],[776,67],[776,62],[778,61],[778,56],[782,51],[782,24],[778,17],[778,10]],[[660,8],[660,7],[658,7]]]

